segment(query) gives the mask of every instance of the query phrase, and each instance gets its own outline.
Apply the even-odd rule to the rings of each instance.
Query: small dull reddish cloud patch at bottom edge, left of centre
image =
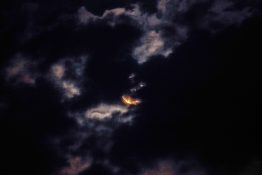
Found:
[[[68,160],[68,166],[62,168],[59,175],[78,175],[79,173],[86,171],[92,165],[92,159],[81,156],[72,157]]]

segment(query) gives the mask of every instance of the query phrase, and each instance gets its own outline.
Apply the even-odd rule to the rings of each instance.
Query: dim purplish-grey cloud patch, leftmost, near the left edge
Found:
[[[6,80],[14,83],[21,83],[33,86],[39,77],[37,63],[26,59],[23,55],[17,54],[5,69]]]

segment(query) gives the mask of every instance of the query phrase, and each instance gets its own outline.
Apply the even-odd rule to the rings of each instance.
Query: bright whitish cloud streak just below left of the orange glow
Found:
[[[128,112],[128,108],[123,105],[99,104],[85,112],[85,117],[96,120],[107,120],[114,116],[121,116]]]

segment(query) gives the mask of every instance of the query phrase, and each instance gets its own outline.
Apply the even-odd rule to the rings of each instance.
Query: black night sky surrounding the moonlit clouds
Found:
[[[114,28],[102,22],[76,27],[71,15],[83,5],[101,15],[134,2],[1,1],[0,174],[48,175],[64,166],[66,160],[50,140],[77,128],[65,111],[117,101],[130,87],[132,72],[147,84],[137,94],[143,103],[134,124],[114,132],[109,153],[93,150],[93,156],[107,157],[131,174],[166,157],[197,160],[214,175],[237,175],[262,161],[261,17],[253,15],[217,33],[192,27],[190,37],[168,58],[154,56],[137,65],[130,52],[141,29],[129,22]],[[34,10],[29,3],[39,7]],[[156,10],[155,1],[141,3],[149,13]],[[44,78],[37,79],[36,87],[7,82],[4,69],[17,53],[41,61],[42,74],[60,58],[88,54],[85,93],[61,103]],[[95,163],[82,174],[110,172]]]

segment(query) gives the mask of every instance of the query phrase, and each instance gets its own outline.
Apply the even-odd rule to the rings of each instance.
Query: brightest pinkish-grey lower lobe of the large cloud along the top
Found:
[[[167,47],[161,34],[153,30],[140,40],[140,44],[133,51],[133,57],[142,64],[154,55],[168,57],[171,53],[172,48]]]

